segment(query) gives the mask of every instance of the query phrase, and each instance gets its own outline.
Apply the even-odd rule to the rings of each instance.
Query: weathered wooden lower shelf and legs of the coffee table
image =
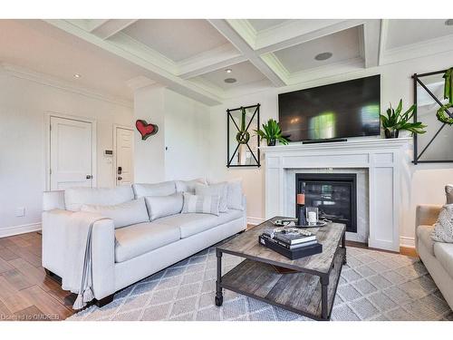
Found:
[[[304,272],[281,274],[264,262],[246,259],[221,277],[219,288],[250,296],[315,320],[330,320],[342,264],[344,248],[338,248],[329,275],[327,298],[323,312],[320,277]],[[325,297],[324,297],[325,298]],[[216,298],[221,306],[223,297]]]

